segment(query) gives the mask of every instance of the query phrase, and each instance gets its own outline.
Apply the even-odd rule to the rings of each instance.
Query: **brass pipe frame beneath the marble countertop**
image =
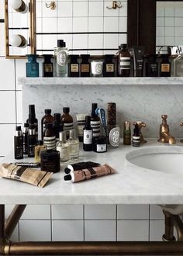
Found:
[[[0,255],[182,255],[183,223],[179,216],[164,212],[164,242],[11,242],[26,205],[16,205],[5,222],[0,205]],[[178,241],[175,242],[174,227]]]

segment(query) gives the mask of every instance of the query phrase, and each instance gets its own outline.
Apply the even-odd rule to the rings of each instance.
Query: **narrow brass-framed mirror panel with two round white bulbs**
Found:
[[[21,58],[35,51],[35,1],[5,0],[5,56]]]

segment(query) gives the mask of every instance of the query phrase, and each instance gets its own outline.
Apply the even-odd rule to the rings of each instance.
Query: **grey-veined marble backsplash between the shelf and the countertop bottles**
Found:
[[[135,78],[133,78],[135,79]],[[53,82],[54,83],[54,82]],[[183,84],[182,85],[23,85],[22,117],[28,116],[28,105],[35,104],[36,117],[43,116],[44,109],[52,113],[61,112],[65,106],[70,107],[71,116],[77,113],[91,112],[91,103],[106,110],[108,102],[116,102],[117,122],[123,127],[125,120],[143,121],[144,137],[158,137],[161,115],[167,114],[167,123],[174,137],[183,137]]]

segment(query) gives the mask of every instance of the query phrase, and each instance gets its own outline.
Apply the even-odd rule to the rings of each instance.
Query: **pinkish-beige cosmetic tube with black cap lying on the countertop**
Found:
[[[103,175],[111,175],[116,171],[110,167],[108,164],[104,164],[102,166],[83,169],[79,171],[71,171],[70,175],[64,176],[65,181],[71,182],[81,182],[88,180],[90,178],[98,178]]]

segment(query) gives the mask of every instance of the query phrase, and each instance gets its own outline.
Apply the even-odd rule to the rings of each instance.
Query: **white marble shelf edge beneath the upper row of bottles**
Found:
[[[18,78],[19,85],[183,85],[183,78]]]

